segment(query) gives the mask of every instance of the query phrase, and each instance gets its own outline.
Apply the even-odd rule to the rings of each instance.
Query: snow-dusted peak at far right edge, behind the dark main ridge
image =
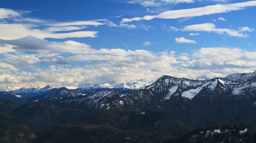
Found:
[[[227,75],[225,78],[240,82],[256,81],[256,71],[251,73],[233,73]]]

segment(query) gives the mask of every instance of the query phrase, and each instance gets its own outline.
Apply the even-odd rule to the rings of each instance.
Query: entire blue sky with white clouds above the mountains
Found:
[[[0,1],[0,85],[256,71],[256,1]]]

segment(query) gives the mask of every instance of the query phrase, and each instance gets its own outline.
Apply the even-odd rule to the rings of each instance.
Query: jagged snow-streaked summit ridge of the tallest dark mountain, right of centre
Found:
[[[236,83],[225,78],[213,78],[207,80],[192,80],[187,78],[176,78],[164,75],[156,82],[146,87],[153,95],[169,100],[171,96],[181,96],[193,99],[202,89],[209,93],[214,91],[228,91]]]

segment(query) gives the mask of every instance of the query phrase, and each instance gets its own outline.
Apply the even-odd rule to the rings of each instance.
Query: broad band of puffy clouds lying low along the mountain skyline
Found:
[[[70,85],[73,83],[92,82],[98,83],[104,80],[114,79],[139,79],[147,78],[156,80],[163,74],[175,77],[197,77],[198,75],[226,76],[234,72],[251,72],[255,70],[255,52],[249,52],[240,48],[207,47],[187,53],[175,54],[175,51],[154,53],[147,50],[123,50],[123,49],[92,49],[87,54],[70,55],[63,60],[73,62],[98,62],[86,66],[67,68],[65,66],[51,65],[44,69],[35,67],[35,71],[17,71],[15,74],[2,71],[0,83],[9,84],[50,84]],[[52,53],[49,57],[58,56]],[[45,57],[45,56],[42,56]],[[26,66],[33,66],[36,62],[42,62],[39,55],[23,55],[8,60],[11,63],[21,64],[27,61]],[[12,65],[1,64],[1,69],[10,69]],[[21,61],[21,62],[19,62]],[[102,62],[101,61],[105,61]],[[47,61],[50,63],[50,61]],[[179,66],[177,66],[179,65]],[[23,65],[24,66],[24,65]],[[26,67],[25,66],[25,67]],[[15,69],[15,67],[13,66]],[[13,70],[14,70],[13,69]]]

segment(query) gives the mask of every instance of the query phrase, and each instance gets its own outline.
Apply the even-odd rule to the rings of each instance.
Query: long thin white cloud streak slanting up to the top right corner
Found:
[[[163,18],[163,19],[175,19],[175,18],[185,18],[185,17],[194,17],[194,16],[203,16],[210,14],[220,14],[227,13],[231,11],[237,11],[245,9],[246,7],[256,6],[256,1],[248,1],[242,3],[233,3],[233,4],[217,4],[212,6],[205,6],[193,9],[183,9],[183,10],[172,10],[160,13],[158,15],[146,15],[144,17],[135,17],[135,18],[123,18],[123,22],[138,21],[141,19],[151,20],[153,18]]]

